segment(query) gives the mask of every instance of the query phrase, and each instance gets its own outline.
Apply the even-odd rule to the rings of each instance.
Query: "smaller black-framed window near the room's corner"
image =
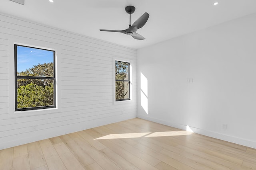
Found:
[[[116,101],[130,100],[130,63],[116,61]]]

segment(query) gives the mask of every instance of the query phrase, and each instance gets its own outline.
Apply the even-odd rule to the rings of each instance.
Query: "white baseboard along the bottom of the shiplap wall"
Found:
[[[86,121],[83,123],[63,125],[60,127],[54,127],[50,129],[38,130],[36,131],[37,135],[0,143],[0,150],[19,146],[19,145],[24,145],[27,143],[32,143],[32,142],[36,142],[36,141],[40,141],[40,140],[44,140],[52,137],[57,137],[57,136],[65,135],[68,133],[74,133],[77,131],[82,131],[85,129],[90,129],[90,128],[94,128],[102,125],[107,125],[110,123],[116,123],[116,122],[124,121],[127,119],[133,119],[136,117],[137,117],[136,113],[121,114],[121,115],[116,115],[111,117],[104,117],[101,119],[94,119],[94,120]]]

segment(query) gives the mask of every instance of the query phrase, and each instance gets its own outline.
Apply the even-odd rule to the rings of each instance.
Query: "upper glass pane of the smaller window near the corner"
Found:
[[[116,80],[129,80],[129,63],[116,61]]]

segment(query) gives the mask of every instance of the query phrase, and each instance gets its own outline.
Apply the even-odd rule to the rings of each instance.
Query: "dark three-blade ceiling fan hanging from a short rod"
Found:
[[[145,25],[145,23],[148,21],[149,14],[145,12],[142,16],[140,16],[140,18],[137,21],[135,21],[131,25],[131,14],[134,13],[135,7],[134,6],[126,6],[125,11],[127,12],[127,14],[130,14],[129,28],[127,28],[125,30],[100,29],[100,31],[124,33],[126,35],[131,35],[134,39],[139,39],[139,40],[145,39],[142,35],[136,33],[136,31],[137,31],[137,29],[139,29]]]

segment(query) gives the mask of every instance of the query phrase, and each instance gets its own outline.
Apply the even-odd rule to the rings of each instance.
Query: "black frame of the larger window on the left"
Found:
[[[20,47],[28,47],[28,48],[34,48],[34,49],[41,49],[41,50],[46,50],[46,51],[52,51],[53,52],[53,77],[43,77],[43,76],[18,76],[17,75],[17,46]],[[56,58],[56,51],[55,50],[50,50],[50,49],[44,49],[44,48],[38,48],[38,47],[33,47],[33,46],[28,46],[28,45],[19,45],[18,43],[14,43],[14,111],[29,111],[29,110],[38,110],[38,109],[49,109],[49,108],[56,108],[56,63],[55,63],[55,58]],[[23,79],[40,79],[40,80],[53,80],[54,83],[54,104],[50,106],[38,106],[38,107],[24,107],[24,108],[18,108],[18,79],[23,78]]]

